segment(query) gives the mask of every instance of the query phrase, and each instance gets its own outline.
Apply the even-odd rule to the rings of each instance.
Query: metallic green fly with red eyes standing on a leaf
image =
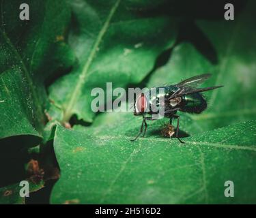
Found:
[[[207,102],[201,93],[203,91],[210,91],[212,89],[223,87],[216,86],[207,88],[197,88],[205,80],[210,78],[210,76],[211,74],[202,74],[199,76],[193,76],[177,84],[169,85],[166,87],[156,87],[156,93],[160,88],[164,89],[164,93],[162,94],[164,95],[162,97],[164,99],[165,104],[164,117],[169,119],[170,125],[173,119],[177,119],[175,137],[181,143],[184,142],[182,142],[182,140],[180,140],[180,138],[178,137],[180,116],[177,115],[177,111],[188,112],[191,114],[200,114],[201,112],[203,112],[203,110],[207,108]],[[143,134],[143,137],[145,136],[145,133],[147,131],[146,121],[154,120],[152,118],[152,115],[156,114],[156,112],[153,112],[151,108],[154,106],[160,107],[159,98],[160,96],[156,95],[156,97],[152,99],[151,91],[141,93],[141,95],[137,97],[136,101],[134,102],[134,115],[143,116],[143,120],[141,123],[141,129],[139,131],[139,134],[133,140],[131,140],[132,142],[137,140],[137,138],[139,138],[141,134]],[[149,106],[149,110],[146,110],[147,106]]]

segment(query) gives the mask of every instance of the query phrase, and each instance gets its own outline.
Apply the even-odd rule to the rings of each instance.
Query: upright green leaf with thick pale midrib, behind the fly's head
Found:
[[[173,45],[176,22],[147,8],[139,13],[134,9],[144,4],[137,1],[76,0],[70,4],[75,22],[69,43],[78,63],[49,89],[55,106],[61,108],[61,116],[52,116],[68,122],[75,114],[92,122],[91,89],[106,89],[106,82],[113,82],[113,88],[141,82],[156,57]]]

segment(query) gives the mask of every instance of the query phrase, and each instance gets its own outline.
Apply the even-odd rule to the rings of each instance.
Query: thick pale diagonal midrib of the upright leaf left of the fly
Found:
[[[83,86],[83,83],[85,82],[84,80],[85,80],[85,77],[89,70],[89,67],[91,66],[91,63],[94,60],[94,57],[98,50],[98,46],[100,45],[100,42],[102,41],[102,38],[104,37],[104,34],[106,33],[107,29],[109,28],[111,19],[113,18],[113,15],[115,14],[115,11],[117,10],[117,7],[119,6],[120,1],[121,0],[117,0],[113,4],[113,7],[111,7],[111,11],[109,12],[109,16],[107,16],[106,21],[104,22],[104,25],[102,26],[102,29],[100,29],[100,32],[98,33],[98,36],[94,43],[94,46],[91,49],[91,52],[89,53],[89,57],[88,57],[87,61],[85,62],[85,65],[83,66],[83,70],[79,76],[79,79],[76,82],[74,91],[72,92],[72,95],[67,104],[66,110],[63,113],[63,123],[68,122],[70,117],[72,116],[72,108],[77,100],[77,97],[79,96],[79,91],[80,91],[81,87]]]

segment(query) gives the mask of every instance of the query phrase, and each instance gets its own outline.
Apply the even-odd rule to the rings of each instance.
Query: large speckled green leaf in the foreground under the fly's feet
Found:
[[[130,142],[140,124],[132,114],[106,113],[91,127],[58,125],[54,147],[61,178],[51,202],[255,202],[255,121],[182,138],[186,144],[161,138],[150,121],[147,136]],[[225,198],[225,181],[233,181],[235,198]]]

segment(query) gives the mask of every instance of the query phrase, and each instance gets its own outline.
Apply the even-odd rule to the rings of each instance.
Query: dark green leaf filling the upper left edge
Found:
[[[42,135],[44,80],[74,61],[63,42],[70,20],[66,3],[26,3],[30,20],[19,19],[21,1],[0,3],[0,138]]]

